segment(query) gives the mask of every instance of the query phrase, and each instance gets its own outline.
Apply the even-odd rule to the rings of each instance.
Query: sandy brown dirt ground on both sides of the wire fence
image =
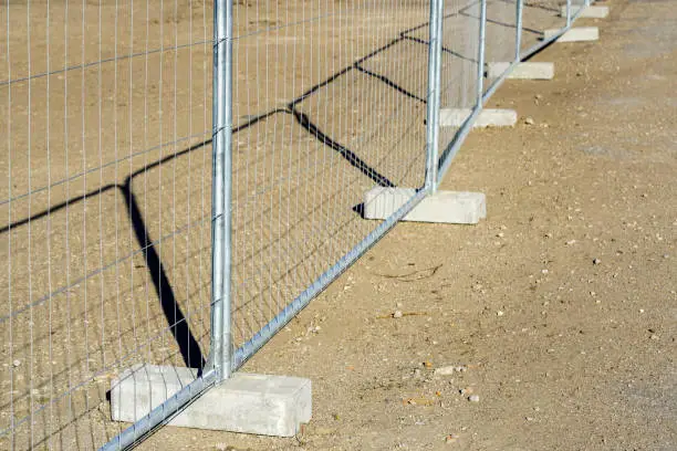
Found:
[[[104,12],[113,11],[113,3],[104,3]],[[180,3],[180,8],[166,3],[164,13],[148,11],[140,2],[129,3],[129,23],[136,25],[118,25],[121,45],[115,51],[133,53],[143,48],[147,18],[153,19],[150,34],[145,36],[150,46],[210,39],[204,29],[211,19],[208,7],[198,1]],[[550,3],[556,2],[538,2]],[[12,18],[24,13],[22,4],[12,3]],[[86,4],[87,22],[96,23],[97,6]],[[320,14],[324,7],[295,4],[275,23],[270,22],[281,17],[275,4],[239,3],[251,15],[241,18],[243,29],[238,32],[252,34],[239,43],[240,54],[248,54],[248,45],[264,49],[251,61],[236,62],[239,124],[271,108],[284,108],[285,102],[310,86],[427,18],[425,4],[410,1],[407,13],[387,17],[382,11],[358,10],[352,19],[343,18],[325,29],[302,28],[294,38],[279,25]],[[556,44],[539,53],[535,61],[555,63],[555,80],[507,82],[489,106],[515,108],[519,125],[473,132],[452,164],[442,188],[485,192],[487,220],[475,227],[398,224],[242,368],[312,380],[313,420],[302,434],[274,439],[167,427],[139,449],[677,449],[677,97],[673,94],[677,92],[677,12],[670,1],[605,4],[612,9],[610,18],[577,22],[598,25],[601,40]],[[525,28],[542,25],[542,18],[552,17],[552,8],[532,8]],[[498,20],[502,10],[510,9],[490,8],[489,15]],[[35,20],[40,11],[33,9]],[[55,11],[56,23],[60,14],[66,19],[71,14],[75,24],[82,12],[76,8]],[[180,17],[171,19],[170,11],[180,11]],[[195,25],[189,31],[184,27],[187,18]],[[560,22],[552,18],[553,25]],[[183,25],[174,29],[177,23]],[[24,24],[15,27],[23,32]],[[273,30],[269,41],[256,35],[260,28]],[[100,28],[107,34],[116,29],[110,20]],[[33,33],[41,31],[33,27]],[[81,48],[88,59],[101,55],[95,39],[86,44],[84,40],[96,27],[66,31],[52,29],[55,35],[70,38],[63,45],[56,39],[51,43],[55,54],[64,52],[49,63],[51,69],[75,61]],[[425,30],[410,34],[419,40],[426,36]],[[510,39],[511,33],[494,23],[489,34],[496,42]],[[535,42],[537,35],[527,31],[525,45]],[[326,45],[332,39],[347,44]],[[367,156],[372,167],[400,185],[420,179],[420,171],[408,172],[402,161],[421,162],[425,144],[425,107],[419,98],[425,96],[427,52],[409,41],[366,60],[363,72],[342,75],[323,96],[296,105],[330,137]],[[325,46],[313,48],[313,42]],[[23,49],[28,42],[17,45]],[[471,42],[462,48],[471,54],[476,50]],[[2,108],[9,105],[0,109],[4,112],[0,129],[10,132],[7,146],[12,154],[7,155],[13,158],[11,168],[7,158],[0,160],[12,175],[11,186],[0,188],[2,199],[74,177],[49,193],[0,204],[2,218],[13,224],[10,230],[1,224],[4,237],[12,237],[0,248],[2,261],[12,262],[0,276],[10,298],[10,306],[2,307],[2,321],[27,300],[72,285],[59,293],[60,298],[50,296],[18,315],[13,332],[2,326],[2,428],[10,426],[10,409],[22,417],[40,405],[49,406],[64,387],[92,382],[73,399],[52,402],[59,405],[54,411],[43,409],[37,416],[34,440],[24,422],[18,431],[22,434],[18,449],[24,448],[29,432],[33,444],[44,449],[90,449],[110,439],[121,427],[108,421],[105,394],[117,368],[137,360],[185,364],[186,356],[181,359],[167,329],[167,321],[179,321],[176,306],[187,316],[187,334],[197,340],[198,355],[192,357],[204,357],[200,347],[205,354],[208,350],[211,167],[210,146],[204,140],[210,135],[210,49],[204,42],[191,49],[164,59],[154,54],[146,60],[147,66],[123,62],[116,73],[104,72],[103,83],[96,67],[83,69],[82,80],[55,74],[34,81],[33,134],[25,133],[19,119],[30,116],[22,104],[31,95],[30,83],[13,86],[9,99],[10,90],[4,85],[0,90]],[[290,53],[292,49],[299,54]],[[496,49],[488,51],[489,57],[509,57]],[[34,60],[13,53],[17,69],[11,78],[48,70],[41,65],[44,61]],[[254,71],[265,63],[277,69]],[[451,74],[459,72],[454,64],[448,67]],[[469,81],[475,64],[468,60],[461,64],[466,78],[459,91],[472,92]],[[385,74],[409,90],[410,96],[399,96],[364,71]],[[49,107],[41,95],[49,88],[48,78],[52,83]],[[270,86],[263,94],[257,92],[262,81]],[[464,95],[454,93],[451,99],[462,101]],[[98,103],[92,101],[97,96]],[[350,102],[341,104],[335,98]],[[358,107],[352,109],[354,105]],[[50,108],[64,111],[63,116],[50,116],[51,136],[44,128]],[[395,119],[388,122],[388,115]],[[8,117],[13,118],[10,125]],[[528,117],[533,124],[524,122]],[[278,296],[273,301],[289,301],[305,286],[304,275],[321,270],[321,262],[340,255],[351,240],[374,227],[351,210],[374,181],[351,172],[354,168],[295,120],[289,112],[275,113],[236,133],[233,166],[241,178],[235,197],[242,202],[236,206],[233,226],[236,247],[243,250],[237,260],[241,272],[236,283],[244,286],[254,281],[237,297],[242,300],[238,307],[243,308],[239,343],[275,313],[251,313],[246,310],[253,305],[250,301],[260,302],[273,287]],[[144,127],[138,126],[142,123]],[[92,129],[98,132],[83,132]],[[62,136],[56,130],[65,132]],[[168,144],[135,154],[142,143]],[[296,156],[293,165],[275,166],[278,160],[268,158],[270,143],[281,143],[272,154],[279,161]],[[32,157],[23,151],[27,147],[33,149]],[[44,151],[49,148],[51,155]],[[319,156],[322,165],[317,165]],[[168,164],[153,166],[163,158]],[[98,169],[115,159],[119,162]],[[303,179],[305,185],[293,179],[310,174],[303,172],[310,168],[303,165],[312,159],[322,170]],[[270,183],[272,188],[264,185],[268,174],[279,177]],[[314,198],[312,193],[300,208],[298,191],[324,188],[325,179],[335,190],[326,195],[333,210],[320,208],[309,216],[304,207],[323,204],[325,195]],[[275,198],[257,198],[259,188],[261,192],[270,188]],[[296,190],[296,210],[290,214],[288,209],[287,217],[278,213],[271,221],[277,226],[268,229],[263,224],[268,202],[272,209],[278,195],[282,201],[282,189],[289,189],[285,202]],[[65,209],[53,208],[60,202],[66,202]],[[48,208],[52,208],[49,220],[35,217]],[[327,218],[342,214],[337,226],[331,223],[337,229],[317,226],[323,213]],[[31,216],[30,226],[22,222]],[[275,227],[292,231],[282,233]],[[334,248],[324,253],[292,253],[300,268],[275,286],[257,275],[260,268],[242,263],[254,259],[265,268],[275,263],[269,270],[272,279],[273,271],[284,270],[282,263],[290,265],[290,256],[281,263],[273,252],[267,253],[273,238],[283,238],[277,244],[280,252],[281,247],[301,249],[299,243],[310,242],[304,240],[322,241],[322,233],[337,235],[347,229],[350,233],[332,241]],[[27,233],[32,238],[27,239]],[[148,251],[154,248],[155,254]],[[121,258],[123,264],[112,264]],[[97,268],[106,270],[85,283],[73,283]],[[154,268],[157,273],[149,274]],[[10,283],[6,284],[7,275]],[[83,298],[88,307],[87,301],[79,303]],[[160,298],[173,300],[173,319]],[[65,302],[71,303],[67,310],[62,307]],[[396,311],[403,316],[392,317]],[[260,317],[249,323],[248,315]],[[48,317],[50,327],[43,327]],[[458,370],[446,376],[435,373],[449,366]],[[470,401],[471,395],[479,402]],[[53,427],[52,417],[63,424],[61,437],[43,441],[40,433],[49,429],[44,424]],[[6,444],[0,442],[0,448]]]

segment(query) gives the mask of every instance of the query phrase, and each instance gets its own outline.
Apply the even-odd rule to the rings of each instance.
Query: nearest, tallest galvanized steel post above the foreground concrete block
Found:
[[[230,201],[232,144],[232,0],[215,0],[211,192],[211,337],[209,365],[230,377]]]

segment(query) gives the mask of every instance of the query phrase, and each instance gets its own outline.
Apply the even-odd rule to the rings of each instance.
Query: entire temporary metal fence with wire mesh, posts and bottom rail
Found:
[[[230,377],[436,190],[579,7],[7,0],[0,448],[124,449]],[[373,222],[374,187],[415,190]],[[195,379],[123,429],[111,381],[149,365]]]

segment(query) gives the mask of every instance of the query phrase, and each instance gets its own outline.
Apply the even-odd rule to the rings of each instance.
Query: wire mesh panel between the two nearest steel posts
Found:
[[[420,0],[240,2],[233,41],[233,343],[252,338],[378,224],[374,187],[418,188],[428,45]],[[269,328],[265,328],[269,329]]]

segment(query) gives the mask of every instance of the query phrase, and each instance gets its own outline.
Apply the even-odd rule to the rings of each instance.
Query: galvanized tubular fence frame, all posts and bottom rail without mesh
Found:
[[[572,14],[571,0],[566,0],[566,24],[554,36],[542,40],[535,45],[521,50],[522,17],[524,2],[515,2],[515,49],[514,60],[509,67],[492,82],[485,92],[485,56],[488,0],[479,0],[480,23],[478,34],[477,98],[471,114],[459,127],[449,145],[439,154],[439,109],[441,86],[441,52],[444,33],[445,0],[431,0],[429,10],[428,48],[428,102],[426,107],[426,174],[425,185],[388,219],[379,223],[368,235],[351,249],[336,264],[322,273],[296,298],[289,303],[269,324],[263,326],[239,349],[233,349],[231,332],[231,150],[232,150],[232,31],[233,0],[215,0],[213,10],[213,86],[212,86],[212,280],[211,280],[211,335],[210,355],[207,366],[197,379],[165,400],[148,415],[125,429],[103,445],[101,450],[126,449],[138,443],[158,427],[166,424],[181,409],[190,405],[211,387],[230,378],[247,359],[262,347],[279,329],[291,321],[310,301],[334,279],[374,245],[402,218],[404,218],[425,197],[436,192],[451,160],[470,132],[472,124],[510,72],[522,60],[553,43],[565,33],[581,14],[584,6]]]

